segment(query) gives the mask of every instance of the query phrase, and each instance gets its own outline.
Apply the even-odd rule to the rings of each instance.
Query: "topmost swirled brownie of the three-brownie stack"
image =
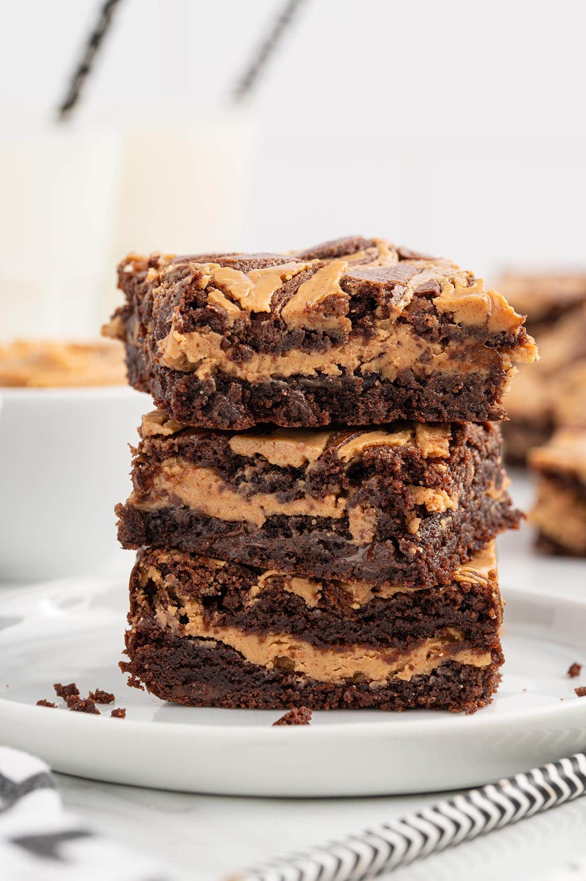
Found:
[[[129,255],[105,329],[130,383],[186,425],[481,421],[535,343],[496,291],[382,239],[294,254]]]

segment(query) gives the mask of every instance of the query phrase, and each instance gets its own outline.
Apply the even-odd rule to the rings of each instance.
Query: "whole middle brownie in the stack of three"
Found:
[[[128,548],[425,586],[519,519],[489,423],[224,433],[155,411],[141,432],[116,508]]]

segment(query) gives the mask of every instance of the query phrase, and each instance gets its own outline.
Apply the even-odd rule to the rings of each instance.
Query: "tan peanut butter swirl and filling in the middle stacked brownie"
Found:
[[[141,435],[143,439],[161,435],[168,437],[175,432],[193,432],[173,420],[167,420],[160,411],[147,413],[143,418]],[[197,430],[195,430],[197,432]],[[204,436],[201,431],[197,432]],[[347,440],[340,443],[339,438]],[[421,426],[404,423],[377,429],[375,432],[354,433],[306,432],[299,430],[276,429],[271,434],[237,433],[228,441],[229,448],[236,455],[255,462],[263,460],[278,467],[304,468],[307,475],[313,474],[324,457],[333,453],[345,469],[359,461],[368,450],[374,448],[412,448],[430,465],[434,459],[449,457],[451,441],[450,426]],[[444,465],[441,465],[445,469]],[[247,477],[247,472],[242,472]],[[248,477],[250,475],[248,474]],[[227,522],[248,522],[262,527],[267,517],[274,515],[309,516],[332,519],[347,519],[348,529],[353,540],[360,545],[368,544],[375,536],[380,512],[366,501],[352,503],[352,487],[343,489],[339,478],[332,484],[333,492],[316,492],[321,487],[309,488],[305,481],[297,484],[296,498],[284,500],[278,492],[259,492],[259,488],[249,479],[228,485],[217,470],[189,463],[181,455],[169,455],[153,470],[148,490],[133,492],[129,503],[142,510],[157,510],[164,507],[182,505],[197,512],[198,515],[217,517]],[[417,533],[422,511],[455,511],[458,506],[459,490],[448,491],[441,487],[406,484],[405,490],[411,494],[412,513],[408,525],[412,533]]]

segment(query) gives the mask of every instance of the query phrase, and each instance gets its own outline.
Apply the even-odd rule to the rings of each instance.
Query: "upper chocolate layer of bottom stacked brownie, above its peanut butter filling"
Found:
[[[449,584],[427,589],[309,579],[145,549],[130,576],[130,620],[144,616],[185,635],[235,629],[251,638],[286,633],[318,650],[364,643],[410,652],[448,632],[489,649],[502,607],[493,543],[458,567]]]

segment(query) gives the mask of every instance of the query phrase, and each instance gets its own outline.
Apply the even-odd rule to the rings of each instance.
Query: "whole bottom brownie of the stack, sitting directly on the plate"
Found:
[[[470,713],[498,684],[501,621],[493,545],[447,585],[395,590],[146,549],[122,669],[190,706]]]

